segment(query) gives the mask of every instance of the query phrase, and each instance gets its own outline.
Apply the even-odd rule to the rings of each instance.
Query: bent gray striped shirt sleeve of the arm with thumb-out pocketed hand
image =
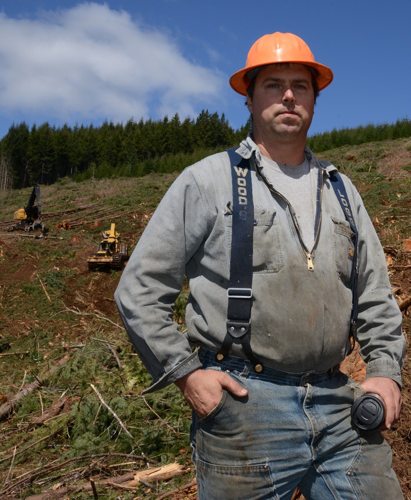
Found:
[[[153,379],[151,392],[201,367],[197,353],[173,321],[185,266],[207,232],[207,210],[186,169],[154,212],[119,285],[115,300],[128,335]]]

